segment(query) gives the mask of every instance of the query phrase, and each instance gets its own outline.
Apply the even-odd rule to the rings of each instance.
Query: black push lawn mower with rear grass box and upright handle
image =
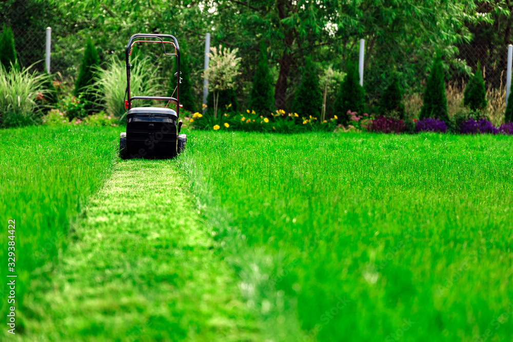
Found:
[[[142,37],[146,40],[135,40]],[[135,43],[162,44],[166,56],[176,56],[176,98],[165,96],[131,96],[130,93],[130,64],[129,58]],[[165,44],[174,47],[174,53],[166,51]],[[169,50],[169,48],[168,48]],[[170,51],[171,52],[171,51]],[[130,37],[125,51],[127,68],[127,89],[125,91],[125,110],[127,111],[127,131],[121,133],[120,155],[128,158],[172,158],[180,153],[187,142],[187,136],[180,134],[182,120],[180,112],[180,47],[176,38],[170,34],[142,34]],[[127,96],[128,95],[128,96]],[[174,92],[171,96],[174,95]],[[128,99],[127,99],[128,98]],[[165,108],[132,107],[133,100],[163,100],[167,101]],[[169,106],[169,108],[167,108]]]

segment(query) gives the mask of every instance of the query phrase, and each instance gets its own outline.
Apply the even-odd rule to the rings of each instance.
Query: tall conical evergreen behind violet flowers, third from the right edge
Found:
[[[447,98],[445,97],[444,67],[440,53],[435,57],[424,91],[424,103],[420,118],[425,117],[436,117],[445,123],[449,122]]]

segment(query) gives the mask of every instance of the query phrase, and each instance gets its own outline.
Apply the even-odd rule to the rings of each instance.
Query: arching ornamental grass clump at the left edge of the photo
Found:
[[[0,65],[0,127],[20,127],[38,123],[44,103],[37,100],[47,93],[43,89],[46,75],[28,69]]]

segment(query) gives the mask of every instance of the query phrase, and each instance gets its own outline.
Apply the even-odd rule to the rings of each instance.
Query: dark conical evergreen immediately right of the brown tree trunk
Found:
[[[311,57],[305,59],[301,70],[301,84],[294,96],[292,109],[299,116],[320,118],[322,110],[322,93],[319,89],[319,76]]]

